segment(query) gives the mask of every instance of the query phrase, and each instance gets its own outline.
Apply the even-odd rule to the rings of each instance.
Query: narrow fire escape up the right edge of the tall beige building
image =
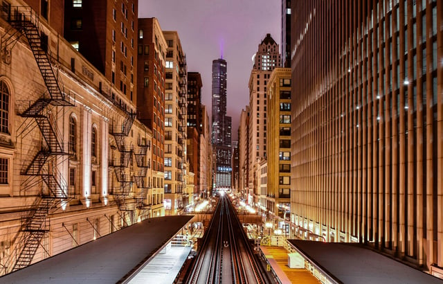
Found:
[[[181,135],[181,138],[179,139],[179,144],[181,145],[181,163],[180,166],[180,172],[179,172],[179,178],[181,181],[181,193],[182,193],[182,200],[189,199],[189,195],[186,192],[186,115],[188,111],[188,103],[186,100],[186,96],[188,95],[188,66],[186,65],[186,55],[183,55],[181,57],[181,62],[179,64],[179,107],[181,109],[181,112],[179,112],[179,121],[181,123],[181,126],[179,127],[179,134]],[[182,206],[186,206],[188,202],[182,201]]]

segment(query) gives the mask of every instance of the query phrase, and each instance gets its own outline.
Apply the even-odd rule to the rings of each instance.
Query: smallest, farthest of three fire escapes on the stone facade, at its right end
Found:
[[[138,170],[134,174],[134,181],[138,188],[134,199],[136,201],[136,208],[138,209],[138,216],[141,220],[152,217],[150,214],[150,204],[146,204],[147,194],[151,185],[146,182],[147,170],[150,168],[151,161],[146,159],[147,150],[151,148],[151,141],[146,138],[139,138],[137,146],[134,150],[134,157]],[[151,201],[152,204],[152,201]]]

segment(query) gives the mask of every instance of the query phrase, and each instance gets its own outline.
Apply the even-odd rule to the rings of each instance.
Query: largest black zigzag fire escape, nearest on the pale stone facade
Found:
[[[41,148],[32,161],[21,170],[21,175],[27,176],[33,182],[24,182],[25,192],[35,189],[43,181],[44,186],[39,197],[31,206],[28,214],[21,218],[19,231],[12,253],[7,260],[6,272],[14,272],[30,265],[42,238],[49,231],[48,214],[59,204],[66,204],[71,197],[57,163],[66,159],[68,152],[62,143],[63,137],[58,132],[51,110],[54,107],[71,107],[74,104],[70,97],[64,94],[62,82],[51,65],[51,55],[48,54],[48,37],[39,26],[39,18],[30,7],[12,7],[7,15],[2,15],[12,26],[6,31],[1,42],[3,54],[10,55],[11,48],[24,35],[28,40],[37,66],[44,80],[47,91],[41,98],[29,102],[19,115],[33,118],[39,127],[43,140]],[[41,179],[40,179],[41,178]],[[35,181],[37,179],[38,181]]]

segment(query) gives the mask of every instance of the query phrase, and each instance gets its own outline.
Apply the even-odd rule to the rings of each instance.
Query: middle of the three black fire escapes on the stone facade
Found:
[[[118,152],[120,152],[120,159],[109,161],[109,166],[114,168],[116,179],[119,186],[113,189],[114,200],[120,211],[121,218],[126,226],[134,222],[134,204],[130,202],[132,193],[132,184],[134,181],[129,173],[129,166],[132,166],[132,152],[131,145],[125,143],[125,139],[131,131],[132,123],[136,117],[136,112],[128,112],[126,109],[122,110],[126,114],[125,121],[122,125],[118,125],[113,121],[109,126],[109,134],[114,136]],[[120,126],[120,127],[119,127]]]

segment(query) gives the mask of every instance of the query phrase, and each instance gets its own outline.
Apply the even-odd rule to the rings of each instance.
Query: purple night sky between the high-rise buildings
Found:
[[[249,103],[252,56],[271,33],[280,45],[280,0],[141,0],[138,17],[156,17],[162,30],[177,30],[188,71],[201,73],[202,100],[211,112],[211,67],[223,55],[228,63],[228,116],[237,140],[240,112]]]

